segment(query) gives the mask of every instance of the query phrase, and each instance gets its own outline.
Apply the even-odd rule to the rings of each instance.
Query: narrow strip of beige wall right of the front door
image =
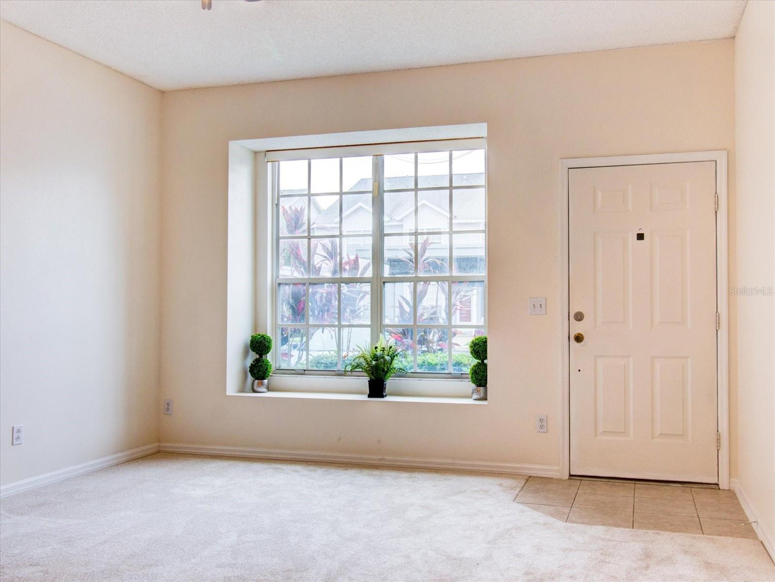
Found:
[[[736,287],[775,285],[773,190],[773,2],[749,2],[735,39],[735,143],[738,225]],[[773,296],[733,295],[737,392],[737,477],[758,515],[760,536],[775,543],[775,375]],[[762,532],[761,529],[764,531]]]

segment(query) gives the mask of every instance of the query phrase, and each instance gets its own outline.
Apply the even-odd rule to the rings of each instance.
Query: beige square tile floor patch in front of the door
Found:
[[[758,539],[734,491],[530,477],[515,501],[561,522]]]

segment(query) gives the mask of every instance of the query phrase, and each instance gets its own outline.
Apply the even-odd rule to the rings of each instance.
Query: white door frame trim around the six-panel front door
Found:
[[[719,329],[716,332],[718,389],[718,487],[729,489],[729,298],[727,296],[727,152],[716,150],[687,153],[656,153],[642,156],[579,157],[560,160],[560,319],[563,322],[562,374],[560,392],[560,477],[570,477],[570,305],[568,259],[568,170],[577,167],[640,166],[644,164],[676,164],[680,162],[716,163],[716,305]]]

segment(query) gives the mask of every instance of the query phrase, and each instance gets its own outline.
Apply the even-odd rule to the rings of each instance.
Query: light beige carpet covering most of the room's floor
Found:
[[[523,482],[160,453],[0,501],[0,579],[775,580],[760,542],[558,522]]]

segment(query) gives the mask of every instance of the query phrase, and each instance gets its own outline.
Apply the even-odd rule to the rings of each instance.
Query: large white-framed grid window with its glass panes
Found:
[[[382,334],[413,374],[467,374],[487,325],[484,141],[274,158],[276,370],[342,370]]]

